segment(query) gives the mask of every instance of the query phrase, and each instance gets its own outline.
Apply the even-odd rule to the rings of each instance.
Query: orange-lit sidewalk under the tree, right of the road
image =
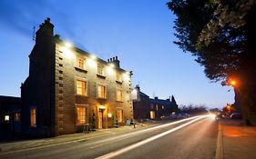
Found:
[[[256,126],[243,125],[241,120],[220,119],[217,158],[256,158]]]

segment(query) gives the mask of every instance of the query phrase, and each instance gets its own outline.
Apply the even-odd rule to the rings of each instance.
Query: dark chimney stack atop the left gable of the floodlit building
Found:
[[[39,29],[36,31],[36,43],[42,41],[48,41],[54,35],[54,25],[51,24],[51,19],[46,18],[45,22],[39,25]]]

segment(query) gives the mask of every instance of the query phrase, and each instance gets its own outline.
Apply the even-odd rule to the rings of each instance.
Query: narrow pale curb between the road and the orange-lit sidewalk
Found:
[[[223,149],[223,134],[222,134],[222,126],[219,121],[219,133],[217,139],[217,147],[215,159],[224,159],[224,149]]]

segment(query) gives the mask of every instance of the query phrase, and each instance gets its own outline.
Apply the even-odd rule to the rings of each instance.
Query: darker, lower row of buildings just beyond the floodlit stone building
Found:
[[[174,96],[168,99],[149,98],[138,85],[132,91],[134,119],[161,119],[162,116],[178,112]]]

